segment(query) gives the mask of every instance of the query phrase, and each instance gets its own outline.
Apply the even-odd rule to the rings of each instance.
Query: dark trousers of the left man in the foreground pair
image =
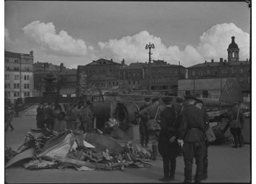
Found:
[[[158,142],[158,151],[163,157],[163,173],[165,177],[174,177],[176,157],[178,156],[178,143]]]

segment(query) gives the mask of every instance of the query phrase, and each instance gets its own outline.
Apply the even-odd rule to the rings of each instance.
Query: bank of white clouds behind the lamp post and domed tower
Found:
[[[187,45],[184,50],[180,50],[177,45],[167,47],[160,37],[142,31],[136,35],[122,37],[120,40],[98,42],[98,56],[113,58],[117,61],[124,58],[127,63],[145,62],[148,60],[149,52],[149,50],[145,50],[145,45],[153,42],[155,49],[152,50],[152,59],[165,60],[173,64],[178,64],[180,60],[182,65],[190,66],[212,58],[227,58],[227,47],[231,43],[232,36],[236,37],[235,42],[240,49],[240,60],[245,60],[250,55],[250,35],[233,23],[214,25],[199,37],[196,47]]]

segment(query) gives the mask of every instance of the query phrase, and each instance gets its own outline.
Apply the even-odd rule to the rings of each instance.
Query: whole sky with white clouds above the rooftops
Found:
[[[4,49],[77,68],[100,58],[189,67],[227,59],[231,37],[250,57],[250,9],[241,2],[5,1]]]

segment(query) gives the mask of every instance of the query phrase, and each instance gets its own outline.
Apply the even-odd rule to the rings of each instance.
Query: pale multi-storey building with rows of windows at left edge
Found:
[[[33,51],[29,54],[4,51],[4,91],[14,103],[17,98],[33,96]]]

